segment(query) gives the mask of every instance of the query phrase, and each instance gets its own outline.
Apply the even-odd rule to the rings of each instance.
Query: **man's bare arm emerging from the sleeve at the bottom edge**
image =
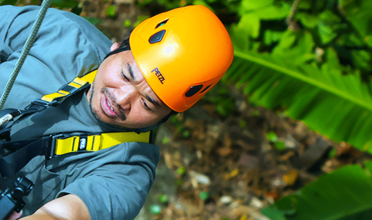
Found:
[[[90,215],[83,200],[76,195],[65,195],[54,199],[39,208],[34,214],[22,220],[89,220]]]

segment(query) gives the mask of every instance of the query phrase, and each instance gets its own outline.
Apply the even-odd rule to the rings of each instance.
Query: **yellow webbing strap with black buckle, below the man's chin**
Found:
[[[76,151],[99,151],[123,142],[149,143],[150,131],[146,133],[121,132],[101,133],[100,135],[72,136],[64,139],[56,139],[54,155],[63,155]]]

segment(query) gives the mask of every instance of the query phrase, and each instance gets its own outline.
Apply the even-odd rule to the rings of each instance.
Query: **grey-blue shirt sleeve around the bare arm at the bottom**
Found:
[[[87,206],[92,220],[102,217],[134,219],[154,182],[158,147],[153,144],[124,143],[116,150],[118,148],[125,148],[122,162],[105,158],[105,164],[76,179],[57,197],[65,194],[78,196]]]

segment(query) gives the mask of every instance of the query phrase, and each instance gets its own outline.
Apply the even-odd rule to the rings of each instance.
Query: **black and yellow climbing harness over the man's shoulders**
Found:
[[[96,70],[79,78],[76,77],[70,83],[63,85],[58,91],[47,94],[34,100],[25,110],[4,109],[6,113],[17,112],[21,120],[32,113],[43,111],[51,106],[61,104],[66,98],[83,91],[93,82]],[[9,140],[12,124],[1,129],[0,138]],[[86,153],[99,151],[123,142],[152,142],[152,131],[143,133],[116,132],[116,133],[57,133],[46,137],[37,137],[31,140],[1,142],[0,149],[6,148],[10,153],[6,157],[0,157],[0,173],[3,176],[15,175],[30,159],[37,155],[45,155],[47,159],[67,153]]]

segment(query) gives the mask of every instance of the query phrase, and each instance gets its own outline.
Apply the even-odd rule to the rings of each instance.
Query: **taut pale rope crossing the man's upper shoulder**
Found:
[[[1,95],[0,111],[4,107],[6,99],[8,98],[8,95],[10,93],[10,89],[12,89],[12,87],[13,87],[14,80],[18,76],[19,70],[21,69],[21,67],[23,65],[23,62],[25,61],[25,58],[26,58],[28,52],[30,52],[32,44],[34,43],[34,41],[36,39],[37,32],[39,31],[41,22],[43,22],[43,19],[45,17],[45,13],[47,12],[47,10],[49,8],[49,5],[50,5],[50,0],[44,0],[43,3],[41,4],[41,8],[39,10],[39,13],[37,14],[36,21],[34,22],[34,25],[32,25],[30,36],[28,36],[28,39],[27,39],[25,45],[23,46],[21,56],[19,57],[16,65],[14,67],[14,70],[13,70],[12,74],[10,75],[8,83],[6,84],[6,87],[4,88],[3,94]]]

